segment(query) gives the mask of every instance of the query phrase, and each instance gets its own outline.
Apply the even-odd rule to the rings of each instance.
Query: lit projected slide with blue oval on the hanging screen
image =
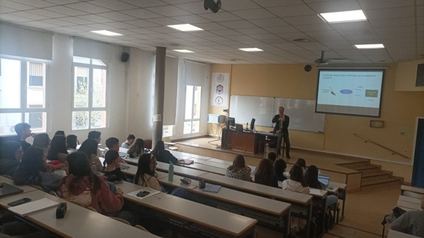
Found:
[[[382,72],[320,72],[317,104],[379,108]]]

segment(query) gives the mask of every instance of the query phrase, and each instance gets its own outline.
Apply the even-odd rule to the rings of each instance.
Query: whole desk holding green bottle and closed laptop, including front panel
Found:
[[[180,179],[182,177],[174,175],[173,181],[163,178],[160,182],[170,187],[187,187],[180,182]],[[196,185],[199,182],[193,180],[192,184]],[[277,226],[278,230],[283,230],[284,237],[288,236],[290,218],[289,203],[267,199],[262,196],[247,194],[225,187],[221,187],[218,193],[204,192],[199,187],[186,190],[189,193],[187,199],[254,218],[259,223],[267,225],[271,229],[275,229]]]

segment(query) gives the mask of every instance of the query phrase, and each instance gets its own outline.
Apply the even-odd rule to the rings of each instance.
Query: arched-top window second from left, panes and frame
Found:
[[[74,56],[72,130],[106,127],[108,68],[98,59]]]

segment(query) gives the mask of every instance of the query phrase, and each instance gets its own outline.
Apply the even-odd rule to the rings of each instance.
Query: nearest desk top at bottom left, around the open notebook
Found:
[[[0,199],[0,204],[6,207],[7,203],[24,197],[30,198],[32,201],[43,198],[48,198],[57,202],[64,201],[56,196],[37,190],[2,198]],[[68,208],[65,218],[63,219],[56,219],[56,207],[27,215],[25,218],[61,237],[116,238],[123,237],[123,234],[125,234],[125,237],[156,237],[154,234],[120,223],[117,220],[108,218],[106,215],[90,211],[74,203],[67,202],[66,205]],[[125,231],[125,233],[123,233],[123,231]]]

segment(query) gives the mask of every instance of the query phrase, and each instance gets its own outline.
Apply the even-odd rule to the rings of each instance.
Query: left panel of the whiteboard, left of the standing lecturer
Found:
[[[270,127],[273,124],[274,99],[264,96],[237,96],[230,97],[230,117],[235,123],[244,124],[255,118],[255,125]]]

